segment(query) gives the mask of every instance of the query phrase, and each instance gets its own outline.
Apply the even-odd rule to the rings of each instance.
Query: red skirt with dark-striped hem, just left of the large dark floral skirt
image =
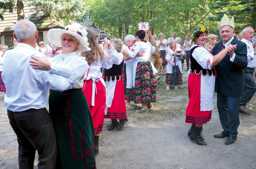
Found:
[[[114,98],[108,113],[104,115],[105,119],[126,119],[126,108],[124,99],[124,81],[120,79],[116,81]]]

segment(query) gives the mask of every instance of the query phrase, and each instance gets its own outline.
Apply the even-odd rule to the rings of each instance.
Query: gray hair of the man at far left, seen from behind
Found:
[[[14,33],[18,42],[35,36],[36,31],[37,27],[30,20],[22,19],[14,25]]]

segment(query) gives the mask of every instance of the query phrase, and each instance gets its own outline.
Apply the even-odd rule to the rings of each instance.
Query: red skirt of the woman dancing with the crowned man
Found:
[[[195,73],[188,76],[188,98],[186,110],[186,123],[205,124],[210,121],[211,111],[200,111],[201,74]]]

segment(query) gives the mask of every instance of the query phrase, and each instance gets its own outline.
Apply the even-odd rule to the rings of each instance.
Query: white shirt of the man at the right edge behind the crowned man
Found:
[[[241,41],[247,45],[247,67],[254,68],[256,66],[256,55],[254,55],[253,44],[246,39],[242,39]]]

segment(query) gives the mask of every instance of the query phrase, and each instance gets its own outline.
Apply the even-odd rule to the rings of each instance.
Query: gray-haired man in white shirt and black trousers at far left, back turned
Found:
[[[13,36],[18,44],[6,53],[2,79],[6,87],[5,107],[19,144],[19,168],[33,169],[37,150],[38,168],[54,169],[57,144],[52,120],[45,108],[47,87],[63,91],[75,84],[68,81],[70,75],[64,77],[30,66],[32,56],[44,59],[44,54],[34,49],[38,31],[31,21],[19,20],[14,25]]]

